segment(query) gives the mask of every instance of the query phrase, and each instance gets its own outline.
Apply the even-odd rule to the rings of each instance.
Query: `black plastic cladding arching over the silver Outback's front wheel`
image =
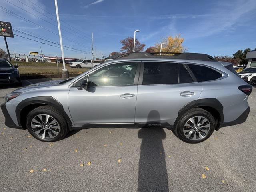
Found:
[[[65,117],[65,119],[67,121],[69,130],[71,130],[72,122],[71,122],[68,114],[66,114],[62,104],[51,96],[31,97],[31,98],[27,98],[27,99],[21,101],[17,105],[16,110],[15,110],[19,126],[22,126],[21,119],[20,119],[22,110],[25,107],[32,105],[32,104],[49,105],[49,106],[56,108],[58,111],[60,111],[63,114],[63,116]]]

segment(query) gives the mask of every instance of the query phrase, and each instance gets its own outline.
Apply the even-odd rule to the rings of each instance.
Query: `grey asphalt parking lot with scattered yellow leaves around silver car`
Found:
[[[0,103],[14,89],[0,89]],[[256,191],[255,101],[254,88],[247,121],[200,144],[167,129],[124,128],[72,131],[46,143],[6,128],[0,111],[0,191]]]

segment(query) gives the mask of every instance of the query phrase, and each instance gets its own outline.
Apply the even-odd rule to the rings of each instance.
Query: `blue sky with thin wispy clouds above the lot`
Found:
[[[53,16],[54,0],[0,1],[2,7],[39,26],[2,12],[2,7],[1,21],[10,22],[16,30],[59,43],[57,21]],[[255,0],[58,0],[58,8],[63,44],[88,52],[64,50],[66,57],[90,58],[92,32],[97,57],[101,53],[108,56],[112,51],[119,51],[120,40],[133,36],[136,29],[140,30],[136,38],[146,44],[146,48],[159,42],[162,37],[179,33],[185,39],[184,46],[188,52],[232,56],[238,49],[256,48]],[[17,31],[14,34],[42,41]],[[41,46],[46,56],[60,56],[60,48],[15,35],[7,40],[11,52],[40,52]],[[5,49],[2,37],[0,48]]]

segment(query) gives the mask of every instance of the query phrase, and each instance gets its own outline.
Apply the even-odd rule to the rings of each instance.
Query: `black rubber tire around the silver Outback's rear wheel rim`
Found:
[[[204,132],[202,132],[203,134],[205,134],[203,136],[203,138],[199,138],[199,131],[200,129],[197,128],[197,125],[196,125],[196,132],[197,135],[196,135],[196,140],[193,140],[192,138],[187,138],[186,135],[184,134],[183,132],[183,129],[184,129],[184,126],[186,124],[186,122],[192,118],[192,117],[196,117],[196,116],[202,116],[204,118],[206,118],[210,124],[210,128],[208,130],[208,133],[205,134]],[[202,108],[192,108],[190,110],[188,110],[185,114],[182,115],[182,117],[180,118],[177,126],[176,126],[176,130],[175,130],[175,134],[176,136],[184,141],[184,142],[187,142],[187,143],[200,143],[200,142],[203,142],[204,140],[206,140],[207,138],[209,138],[214,129],[215,129],[215,126],[216,126],[216,122],[214,120],[214,117],[212,116],[212,114],[210,114],[208,111],[202,109]],[[193,134],[195,132],[195,130],[192,130]],[[201,131],[200,131],[201,132]],[[202,136],[202,135],[201,135]],[[191,134],[191,137],[192,137],[192,134]]]

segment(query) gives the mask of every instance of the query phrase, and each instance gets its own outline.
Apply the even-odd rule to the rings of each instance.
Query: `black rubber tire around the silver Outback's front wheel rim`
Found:
[[[59,129],[59,133],[54,138],[42,138],[32,130],[31,121],[35,116],[40,114],[50,115],[53,118],[55,118],[55,120],[58,122],[60,129]],[[30,111],[26,117],[26,127],[28,129],[28,132],[30,132],[30,134],[34,138],[44,142],[54,142],[54,141],[61,140],[66,136],[66,134],[69,131],[68,125],[64,116],[56,108],[48,105],[40,106]]]

